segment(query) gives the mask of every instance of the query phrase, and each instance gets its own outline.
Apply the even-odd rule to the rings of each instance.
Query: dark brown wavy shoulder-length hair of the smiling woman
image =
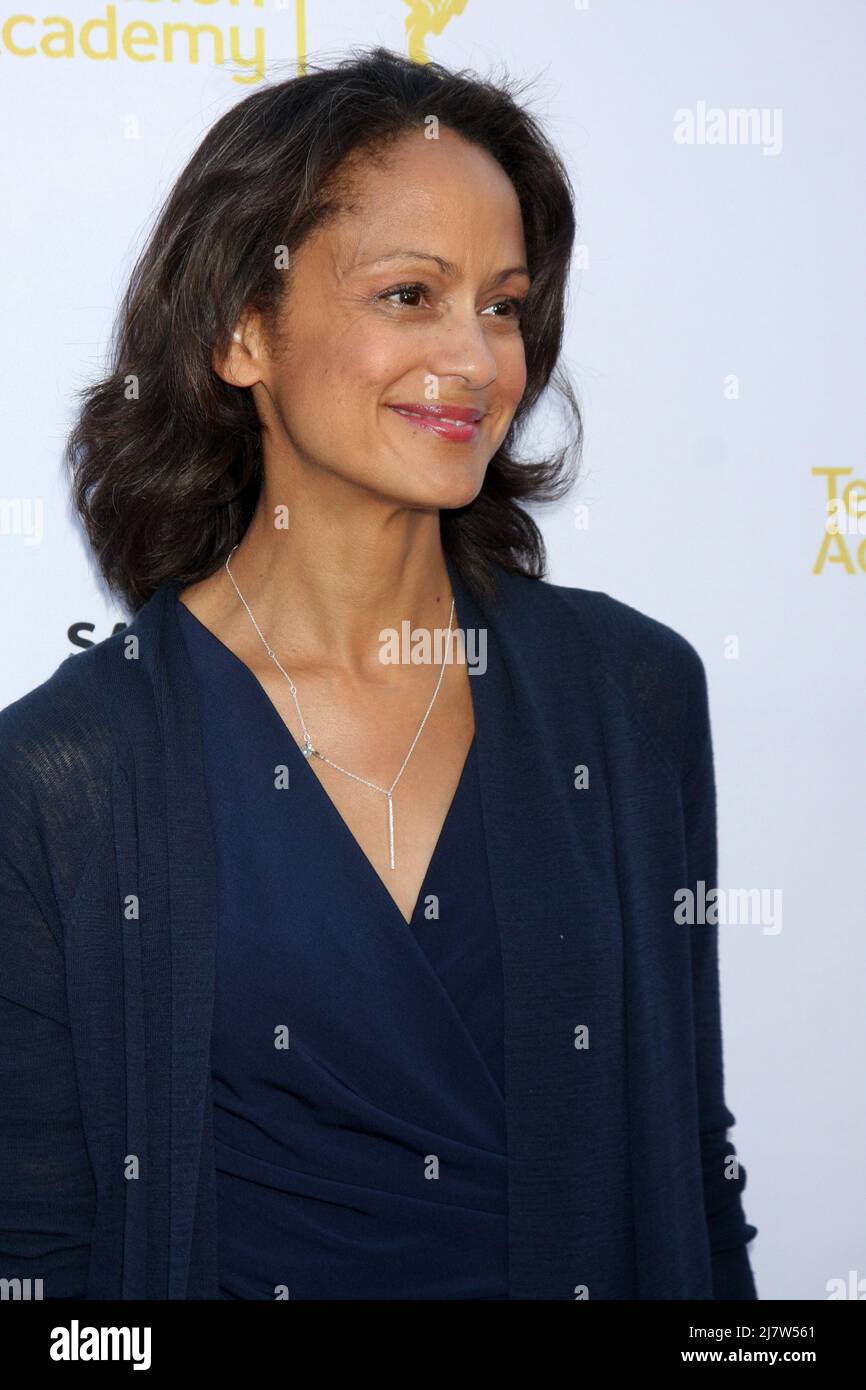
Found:
[[[523,213],[532,286],[521,327],[527,386],[468,505],[439,514],[443,550],[478,596],[493,562],[542,578],[544,539],[520,502],[559,500],[582,450],[575,393],[557,366],[574,242],[569,175],[514,83],[417,64],[384,47],[268,85],[207,132],[174,183],[120,304],[110,374],[83,398],[64,463],[108,589],[135,613],[167,578],[207,578],[240,541],[263,478],[261,423],[249,388],[213,370],[243,309],[274,331],[291,275],[277,268],[348,206],[348,156],[375,158],[428,117],[482,146]],[[521,95],[521,93],[520,93]],[[552,457],[514,443],[553,378],[574,427]],[[133,384],[136,384],[133,386]]]

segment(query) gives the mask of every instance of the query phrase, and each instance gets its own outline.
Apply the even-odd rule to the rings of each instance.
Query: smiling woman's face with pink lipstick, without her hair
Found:
[[[302,477],[325,470],[407,506],[463,506],[525,389],[517,195],[449,129],[359,163],[356,193],[357,208],[295,256],[279,356],[250,363],[234,349],[271,431],[267,470],[279,478],[291,460]],[[398,406],[463,407],[478,421],[434,430]]]

